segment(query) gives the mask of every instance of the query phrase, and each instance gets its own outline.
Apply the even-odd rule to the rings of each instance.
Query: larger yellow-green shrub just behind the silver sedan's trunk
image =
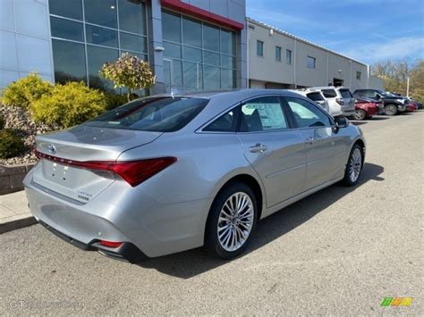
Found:
[[[55,85],[31,105],[35,121],[64,128],[72,127],[97,117],[106,110],[105,95],[88,88],[83,82]]]

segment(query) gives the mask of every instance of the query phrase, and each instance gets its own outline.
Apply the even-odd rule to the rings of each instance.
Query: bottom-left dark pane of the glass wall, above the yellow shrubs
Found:
[[[87,82],[84,45],[53,39],[52,46],[55,81],[65,83],[83,80]]]

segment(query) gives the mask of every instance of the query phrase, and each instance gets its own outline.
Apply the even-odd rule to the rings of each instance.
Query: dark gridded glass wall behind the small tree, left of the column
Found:
[[[140,0],[49,0],[55,81],[82,80],[113,91],[99,76],[128,52],[148,59],[146,5]]]

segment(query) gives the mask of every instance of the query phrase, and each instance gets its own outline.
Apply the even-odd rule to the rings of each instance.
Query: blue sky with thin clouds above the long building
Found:
[[[424,58],[424,0],[247,0],[248,17],[365,63]]]

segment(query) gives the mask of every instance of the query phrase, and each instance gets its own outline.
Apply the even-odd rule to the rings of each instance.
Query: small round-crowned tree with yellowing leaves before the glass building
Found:
[[[100,75],[114,81],[114,88],[128,88],[128,101],[135,89],[151,88],[156,82],[156,76],[147,62],[137,56],[124,53],[114,63],[105,63]]]

